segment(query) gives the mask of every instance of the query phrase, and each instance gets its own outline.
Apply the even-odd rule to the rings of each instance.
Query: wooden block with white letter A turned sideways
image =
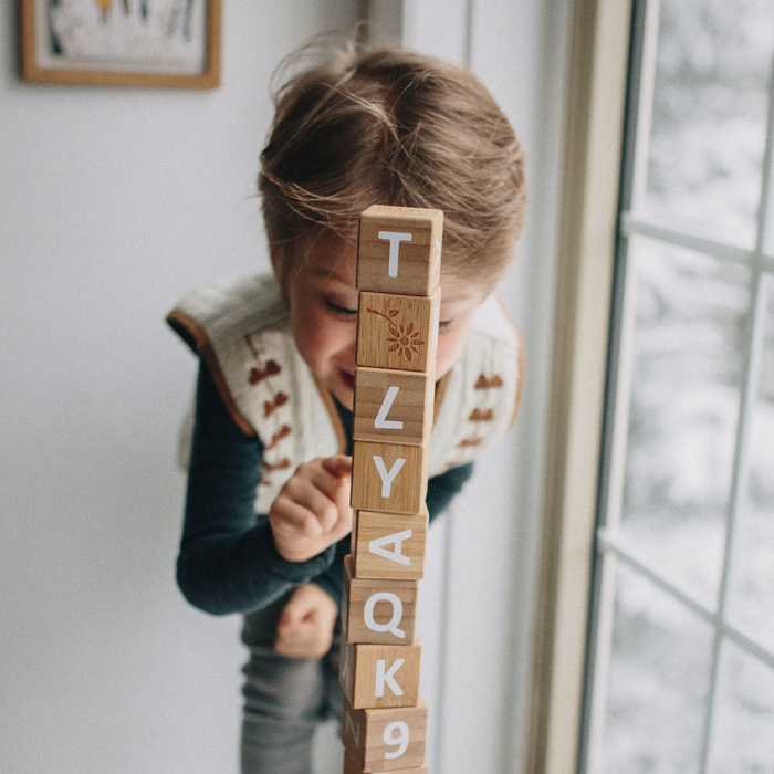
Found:
[[[358,511],[352,531],[356,578],[420,579],[425,575],[427,505],[420,515]]]

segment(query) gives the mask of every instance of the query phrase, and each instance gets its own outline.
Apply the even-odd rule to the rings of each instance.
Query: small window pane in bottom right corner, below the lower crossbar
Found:
[[[723,647],[711,774],[771,774],[774,671],[733,644]]]

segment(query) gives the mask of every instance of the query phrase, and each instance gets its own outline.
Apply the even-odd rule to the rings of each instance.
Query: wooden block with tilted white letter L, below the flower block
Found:
[[[429,443],[436,394],[433,372],[356,368],[352,437],[356,441]]]

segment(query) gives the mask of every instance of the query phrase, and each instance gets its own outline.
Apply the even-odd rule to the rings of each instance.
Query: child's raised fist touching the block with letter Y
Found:
[[[352,530],[352,457],[299,466],[269,509],[274,546],[289,562],[305,562]]]

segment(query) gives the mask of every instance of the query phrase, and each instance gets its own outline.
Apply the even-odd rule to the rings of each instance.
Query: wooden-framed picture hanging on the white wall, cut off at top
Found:
[[[191,88],[220,82],[220,0],[20,3],[27,81]]]

